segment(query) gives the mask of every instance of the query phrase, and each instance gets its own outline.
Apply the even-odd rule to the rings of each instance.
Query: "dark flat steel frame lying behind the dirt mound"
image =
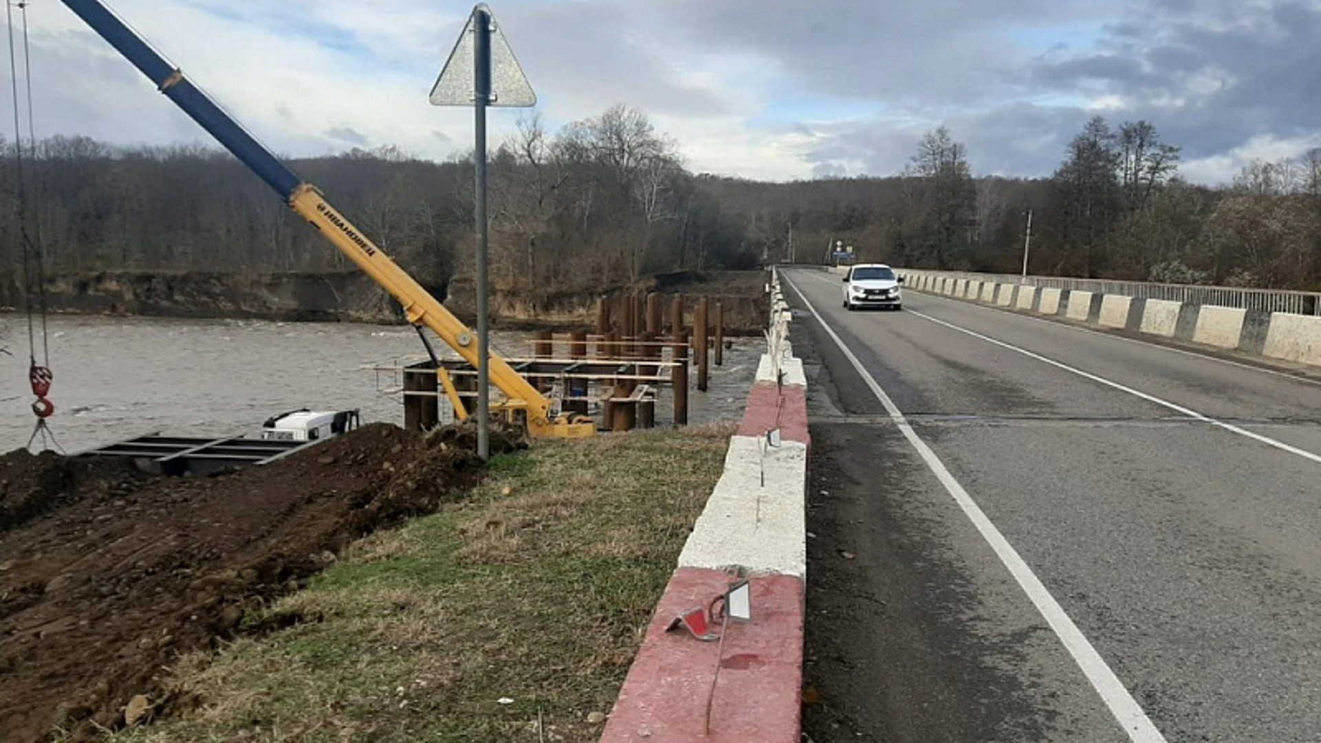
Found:
[[[320,442],[284,442],[229,436],[225,439],[149,434],[89,450],[81,456],[120,456],[153,475],[215,475],[269,464]]]

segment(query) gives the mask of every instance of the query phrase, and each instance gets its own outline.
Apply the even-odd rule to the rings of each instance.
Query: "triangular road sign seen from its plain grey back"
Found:
[[[527,82],[523,67],[518,65],[518,58],[514,57],[509,41],[505,40],[505,32],[495,22],[495,16],[490,15],[490,9],[485,4],[478,5],[477,9],[486,11],[491,25],[491,99],[486,104],[519,108],[535,106],[536,94],[532,93],[532,86]],[[454,42],[454,49],[449,53],[445,67],[441,69],[436,85],[431,89],[432,106],[472,106],[476,103],[473,40],[476,38],[477,9],[468,16],[464,33]]]

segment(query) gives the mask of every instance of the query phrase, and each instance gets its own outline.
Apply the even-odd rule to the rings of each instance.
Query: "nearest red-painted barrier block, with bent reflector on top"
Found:
[[[731,575],[680,567],[657,604],[601,743],[798,743],[803,582],[752,578],[752,621],[715,624],[724,641],[666,632],[679,613],[723,595]],[[717,670],[719,669],[719,670]],[[707,705],[711,727],[704,732]]]

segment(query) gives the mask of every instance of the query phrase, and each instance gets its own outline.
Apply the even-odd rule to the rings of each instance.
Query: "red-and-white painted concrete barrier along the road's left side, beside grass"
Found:
[[[778,299],[773,307],[768,353],[724,472],[655,607],[602,743],[801,740],[811,439],[806,377],[787,342],[791,315]],[[711,606],[737,576],[749,582],[750,623],[715,621],[719,643],[667,631],[682,612]],[[729,657],[746,662],[727,665]]]

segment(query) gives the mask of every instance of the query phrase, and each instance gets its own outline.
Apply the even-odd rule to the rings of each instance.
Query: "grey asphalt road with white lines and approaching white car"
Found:
[[[1321,385],[783,275],[811,740],[1321,742]]]

